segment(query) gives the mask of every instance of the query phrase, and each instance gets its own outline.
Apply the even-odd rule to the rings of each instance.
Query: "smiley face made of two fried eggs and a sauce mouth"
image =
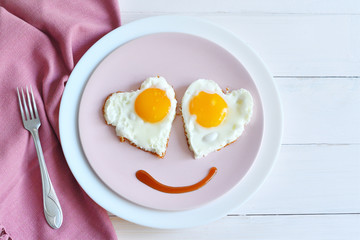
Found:
[[[175,118],[176,99],[173,88],[163,77],[148,78],[134,92],[117,92],[105,101],[103,113],[108,125],[116,127],[121,141],[128,140],[139,149],[163,158]],[[234,142],[252,114],[250,93],[241,89],[224,94],[211,80],[192,83],[182,100],[185,133],[195,158],[207,155]],[[164,193],[186,193],[207,184],[217,173],[211,167],[199,182],[188,186],[168,186],[155,180],[145,170],[136,178]]]

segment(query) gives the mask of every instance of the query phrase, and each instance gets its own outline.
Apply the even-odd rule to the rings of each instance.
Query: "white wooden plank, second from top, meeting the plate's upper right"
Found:
[[[161,14],[125,12],[122,21]],[[264,59],[274,76],[360,76],[359,15],[188,15],[235,33]]]

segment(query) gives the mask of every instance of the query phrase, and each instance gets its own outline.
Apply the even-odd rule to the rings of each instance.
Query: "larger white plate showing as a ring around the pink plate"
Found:
[[[231,52],[255,81],[263,103],[264,135],[258,156],[241,182],[219,199],[192,210],[160,211],[129,202],[108,188],[91,169],[78,134],[81,94],[96,66],[113,50],[135,38],[158,32],[188,33],[206,38]],[[186,228],[225,216],[252,195],[269,174],[279,150],[282,113],[273,79],[260,58],[232,33],[203,20],[161,16],[138,20],[113,30],[96,42],[71,73],[60,105],[60,137],[67,163],[85,192],[109,212],[154,228]]]

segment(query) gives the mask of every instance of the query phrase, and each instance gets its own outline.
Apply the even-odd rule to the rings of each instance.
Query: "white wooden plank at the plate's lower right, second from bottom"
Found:
[[[360,145],[284,145],[267,181],[233,214],[360,213]]]

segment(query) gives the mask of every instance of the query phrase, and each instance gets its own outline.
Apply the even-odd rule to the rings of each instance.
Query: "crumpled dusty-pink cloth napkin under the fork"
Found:
[[[116,239],[104,209],[71,174],[59,142],[59,105],[74,65],[120,26],[117,0],[0,1],[0,239]],[[43,214],[34,142],[24,129],[16,87],[32,85],[40,139],[64,222]]]

